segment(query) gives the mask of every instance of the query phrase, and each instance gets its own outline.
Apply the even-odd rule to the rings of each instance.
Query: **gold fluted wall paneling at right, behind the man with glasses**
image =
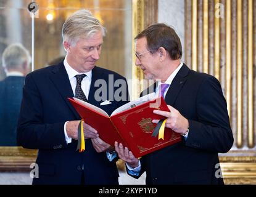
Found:
[[[253,2],[253,0],[185,1],[186,30],[194,33],[194,36],[186,33],[186,45],[188,49],[192,48],[192,53],[188,53],[186,60],[192,58],[192,68],[198,70],[197,63],[201,61],[201,57],[198,53],[194,54],[194,50],[198,47],[203,48],[203,70],[220,79],[226,95],[234,146],[228,153],[220,154],[225,183],[255,183],[256,179],[254,125],[256,105],[253,69],[256,60],[254,30],[256,4]],[[202,9],[203,15],[199,14]],[[216,15],[219,12],[223,15]],[[201,20],[203,20],[202,24],[199,23]],[[203,43],[196,39],[197,30],[202,29],[200,25],[203,25],[204,29]],[[207,27],[209,30],[206,29]]]

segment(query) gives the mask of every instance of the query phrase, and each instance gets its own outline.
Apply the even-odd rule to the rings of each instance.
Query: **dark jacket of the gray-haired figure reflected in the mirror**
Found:
[[[22,102],[23,76],[0,81],[0,146],[17,146],[16,128]]]

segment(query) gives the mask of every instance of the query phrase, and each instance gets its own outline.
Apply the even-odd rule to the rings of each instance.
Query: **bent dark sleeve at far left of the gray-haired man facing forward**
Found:
[[[64,135],[65,123],[44,124],[41,94],[28,74],[23,87],[22,105],[17,126],[17,142],[24,148],[57,149],[67,147]]]

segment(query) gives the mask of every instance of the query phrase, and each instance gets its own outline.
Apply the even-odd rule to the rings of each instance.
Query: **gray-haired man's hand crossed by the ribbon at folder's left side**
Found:
[[[67,131],[68,137],[78,140],[79,124],[80,124],[80,121],[70,121],[66,124],[66,131]],[[97,134],[97,131],[93,129],[93,127],[89,126],[89,124],[86,124],[86,123],[83,123],[83,134],[85,136],[85,139],[99,137],[99,134]]]

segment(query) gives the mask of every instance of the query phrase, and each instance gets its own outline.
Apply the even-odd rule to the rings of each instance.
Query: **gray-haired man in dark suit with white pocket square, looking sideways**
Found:
[[[119,88],[114,87],[115,81],[122,80],[127,86],[126,79],[96,66],[104,35],[104,27],[91,12],[78,10],[62,27],[65,60],[36,70],[25,79],[17,140],[24,148],[39,149],[39,177],[33,184],[118,184],[114,148],[88,124],[83,123],[85,151],[76,151],[81,118],[67,99],[80,98],[109,115],[128,101],[127,89],[126,99],[110,98]],[[109,84],[109,76],[114,83]],[[107,100],[97,97],[97,79],[108,84],[104,92]]]

